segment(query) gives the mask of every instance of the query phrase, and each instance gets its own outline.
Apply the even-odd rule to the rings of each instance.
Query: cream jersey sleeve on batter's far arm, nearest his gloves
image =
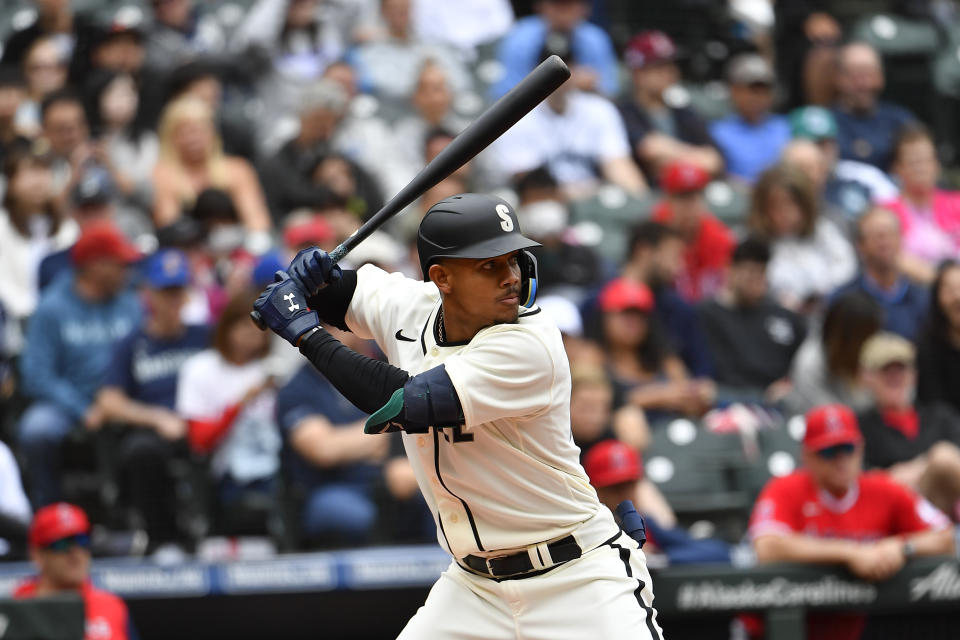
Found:
[[[372,264],[357,270],[357,287],[347,307],[350,331],[383,345],[397,328],[399,312],[421,296],[429,295],[425,282],[401,273],[387,273]]]

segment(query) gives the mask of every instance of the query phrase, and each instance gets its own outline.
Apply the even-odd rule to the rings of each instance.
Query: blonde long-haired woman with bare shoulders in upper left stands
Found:
[[[197,194],[217,188],[230,194],[246,230],[264,237],[270,216],[260,182],[246,160],[223,153],[213,116],[205,102],[191,97],[176,100],[164,110],[160,158],[153,171],[154,223],[163,227],[174,222],[193,205]]]

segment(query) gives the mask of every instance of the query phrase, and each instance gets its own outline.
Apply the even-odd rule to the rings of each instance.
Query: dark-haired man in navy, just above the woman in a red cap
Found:
[[[659,222],[641,222],[630,232],[629,255],[621,274],[653,292],[653,316],[696,378],[713,372],[710,350],[693,306],[676,289],[683,270],[683,239]]]

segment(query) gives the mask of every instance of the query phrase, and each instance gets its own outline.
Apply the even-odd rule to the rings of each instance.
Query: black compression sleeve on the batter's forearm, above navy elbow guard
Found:
[[[410,378],[403,369],[353,351],[323,329],[303,339],[300,353],[343,397],[365,413],[374,413],[387,404],[393,392],[403,388]]]

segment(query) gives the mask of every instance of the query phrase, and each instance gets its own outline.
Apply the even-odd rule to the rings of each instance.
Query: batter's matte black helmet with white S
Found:
[[[506,201],[482,193],[462,193],[430,207],[417,233],[423,279],[440,258],[493,258],[520,251],[520,304],[537,295],[537,260],[525,249],[540,243],[520,233],[517,213]]]

